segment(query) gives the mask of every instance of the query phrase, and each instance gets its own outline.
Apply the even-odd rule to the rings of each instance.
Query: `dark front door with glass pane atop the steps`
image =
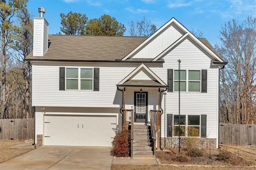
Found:
[[[148,92],[134,92],[134,122],[148,122]]]

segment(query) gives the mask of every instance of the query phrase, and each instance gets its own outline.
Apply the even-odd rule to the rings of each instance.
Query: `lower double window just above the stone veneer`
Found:
[[[179,115],[174,115],[173,136],[179,136]],[[200,136],[200,115],[180,115],[180,136]]]

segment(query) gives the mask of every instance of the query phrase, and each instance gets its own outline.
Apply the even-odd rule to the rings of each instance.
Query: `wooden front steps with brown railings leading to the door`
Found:
[[[130,130],[131,158],[156,158],[160,150],[160,110],[150,110],[150,123],[134,123],[134,110],[122,110],[122,128]]]

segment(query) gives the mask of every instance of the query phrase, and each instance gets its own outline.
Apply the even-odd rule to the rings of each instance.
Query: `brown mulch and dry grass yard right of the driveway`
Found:
[[[232,146],[230,146],[232,147]],[[250,148],[230,148],[222,146],[221,149],[202,150],[203,155],[199,157],[186,156],[187,151],[182,150],[182,162],[174,160],[178,154],[178,150],[168,150],[167,152],[158,151],[156,158],[160,160],[162,166],[154,165],[112,165],[112,170],[245,170],[248,168],[256,168],[256,147]],[[238,150],[239,149],[239,150]],[[227,155],[220,154],[225,153]],[[226,157],[228,156],[228,157]],[[178,167],[170,164],[178,165]],[[184,165],[184,166],[183,166]],[[208,166],[208,167],[205,167]]]

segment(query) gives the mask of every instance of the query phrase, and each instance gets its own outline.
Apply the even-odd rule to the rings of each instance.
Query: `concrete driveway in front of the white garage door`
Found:
[[[110,147],[41,146],[0,164],[0,170],[110,170]]]

